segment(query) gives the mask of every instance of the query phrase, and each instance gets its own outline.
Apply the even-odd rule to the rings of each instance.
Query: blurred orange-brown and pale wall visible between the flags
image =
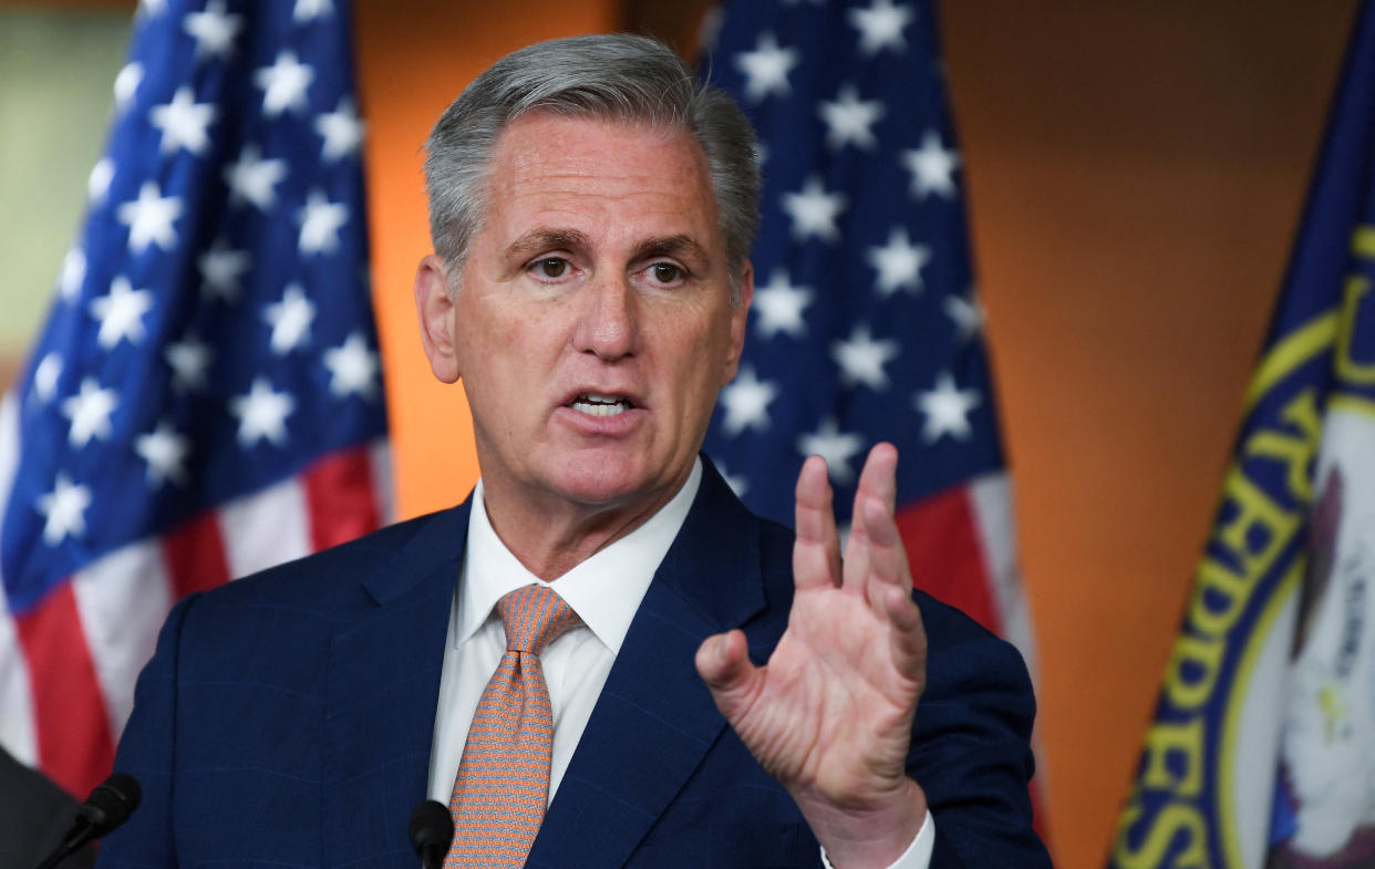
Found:
[[[400,512],[463,498],[466,408],[410,286],[419,146],[500,55],[641,30],[692,54],[701,0],[356,0],[374,301]],[[81,219],[129,0],[0,0],[0,381]],[[1354,0],[939,6],[978,292],[1041,648],[1056,862],[1100,866],[1210,528]]]

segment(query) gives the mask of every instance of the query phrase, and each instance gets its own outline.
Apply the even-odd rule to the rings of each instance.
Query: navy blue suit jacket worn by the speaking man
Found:
[[[792,534],[707,463],[626,635],[527,866],[820,866],[796,804],[749,756],[693,666],[742,627],[764,661],[788,620]],[[117,769],[143,806],[99,866],[418,865],[459,507],[192,595],[139,678]],[[1009,645],[918,594],[930,637],[912,776],[934,868],[1049,866],[1031,832],[1034,701]]]

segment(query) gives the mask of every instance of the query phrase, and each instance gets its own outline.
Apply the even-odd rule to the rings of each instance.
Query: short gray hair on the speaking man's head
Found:
[[[711,169],[732,301],[759,227],[755,132],[719,88],[667,45],[631,34],[576,36],[512,52],[473,80],[425,142],[430,238],[456,287],[487,210],[487,173],[502,131],[529,111],[690,132]]]

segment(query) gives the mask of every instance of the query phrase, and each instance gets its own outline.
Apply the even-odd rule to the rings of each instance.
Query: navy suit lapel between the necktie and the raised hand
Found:
[[[701,488],[645,594],[527,868],[620,866],[726,722],[693,657],[764,605],[756,520],[704,459]]]

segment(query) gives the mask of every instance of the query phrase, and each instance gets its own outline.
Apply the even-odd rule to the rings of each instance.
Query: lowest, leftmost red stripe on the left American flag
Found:
[[[72,793],[85,793],[92,770],[114,763],[114,740],[100,682],[72,583],[65,582],[18,619],[19,645],[33,679],[37,755],[44,771]],[[96,778],[96,781],[99,781]]]

